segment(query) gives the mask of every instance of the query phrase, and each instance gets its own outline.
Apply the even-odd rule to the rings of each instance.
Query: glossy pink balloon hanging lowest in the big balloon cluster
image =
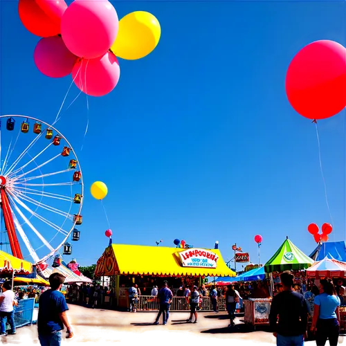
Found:
[[[120,78],[118,59],[111,52],[96,59],[80,59],[73,66],[72,77],[78,89],[86,95],[106,95],[118,84]]]

